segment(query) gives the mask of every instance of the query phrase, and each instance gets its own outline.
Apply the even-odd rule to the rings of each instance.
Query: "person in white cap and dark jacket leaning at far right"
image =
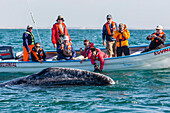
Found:
[[[156,32],[149,35],[146,39],[151,40],[151,43],[149,45],[149,48],[145,49],[143,52],[163,48],[166,41],[166,34],[163,32],[163,27],[161,25],[158,25],[156,27]]]

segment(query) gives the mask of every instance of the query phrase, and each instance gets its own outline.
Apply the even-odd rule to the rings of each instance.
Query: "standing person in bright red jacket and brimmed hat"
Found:
[[[52,43],[54,44],[54,48],[56,48],[58,52],[61,44],[63,43],[64,36],[69,37],[70,43],[71,43],[71,38],[69,36],[66,25],[63,23],[64,22],[63,17],[59,15],[56,21],[57,23],[55,23],[53,25],[53,28],[51,29],[52,30],[51,40]]]

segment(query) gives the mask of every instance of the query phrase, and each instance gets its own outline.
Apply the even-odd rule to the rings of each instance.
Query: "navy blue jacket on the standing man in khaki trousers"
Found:
[[[116,26],[116,30],[117,30],[117,23],[115,23],[115,26]],[[109,27],[110,27],[110,29],[111,29],[112,23],[109,24]],[[107,29],[106,29],[106,25],[105,25],[105,24],[103,25],[102,38],[103,38],[104,40],[106,39],[106,41],[115,41],[115,40],[116,40],[115,38],[113,38],[113,36],[109,36],[109,35],[108,35],[108,32],[107,32]]]

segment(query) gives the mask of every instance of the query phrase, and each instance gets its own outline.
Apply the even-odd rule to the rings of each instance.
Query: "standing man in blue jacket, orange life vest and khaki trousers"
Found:
[[[116,39],[113,38],[114,32],[117,30],[117,24],[112,21],[112,16],[107,15],[107,22],[103,25],[103,45],[106,46],[105,39],[107,42],[107,54],[109,57],[116,57]]]

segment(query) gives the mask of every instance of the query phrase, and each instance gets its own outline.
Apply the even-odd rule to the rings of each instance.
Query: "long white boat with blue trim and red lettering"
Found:
[[[103,71],[117,71],[117,70],[150,70],[163,69],[170,67],[170,44],[166,44],[164,48],[153,50],[146,53],[140,53],[147,45],[130,46],[131,55],[106,58]],[[102,49],[102,51],[106,51]],[[76,51],[80,55],[79,51]],[[84,61],[80,64],[80,60],[61,60],[52,61],[52,58],[57,54],[56,51],[46,51],[47,61],[39,62],[24,62],[19,60],[1,60],[0,72],[39,72],[48,67],[65,67],[75,68],[88,71],[94,71],[94,66],[90,60]]]

